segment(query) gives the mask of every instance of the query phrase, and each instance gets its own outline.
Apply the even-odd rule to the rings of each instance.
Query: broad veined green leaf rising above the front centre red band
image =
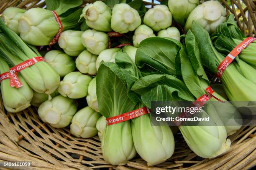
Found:
[[[96,92],[99,110],[113,117],[133,110],[134,103],[127,95],[125,76],[117,64],[102,63],[97,72]]]

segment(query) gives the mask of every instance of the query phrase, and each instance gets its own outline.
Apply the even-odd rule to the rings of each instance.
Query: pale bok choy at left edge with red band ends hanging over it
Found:
[[[1,54],[1,52],[0,52]],[[0,55],[1,56],[1,55]],[[0,57],[0,74],[9,71],[9,66],[2,57]],[[33,97],[33,90],[23,77],[18,74],[22,87],[16,89],[10,87],[10,78],[0,81],[0,89],[3,98],[3,105],[8,112],[20,112],[30,106]],[[3,78],[3,77],[0,77]]]

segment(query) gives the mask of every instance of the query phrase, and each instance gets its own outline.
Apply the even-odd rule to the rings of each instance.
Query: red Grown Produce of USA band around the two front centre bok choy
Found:
[[[124,122],[126,120],[130,120],[130,119],[142,116],[142,115],[146,115],[147,113],[149,113],[148,108],[147,107],[141,107],[141,108],[133,110],[131,112],[126,112],[126,113],[123,113],[121,115],[108,117],[106,119],[106,123],[107,123],[107,126],[108,125],[113,125],[113,124]]]

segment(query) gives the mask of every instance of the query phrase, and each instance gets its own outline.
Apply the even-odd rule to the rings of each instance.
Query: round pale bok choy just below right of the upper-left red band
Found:
[[[82,44],[82,31],[67,30],[61,33],[59,37],[59,47],[61,47],[67,55],[76,57],[85,47]]]

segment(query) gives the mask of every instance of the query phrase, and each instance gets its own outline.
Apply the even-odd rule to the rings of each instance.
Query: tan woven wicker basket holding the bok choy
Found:
[[[221,0],[227,13],[233,13],[239,28],[248,36],[255,35],[256,1],[255,0]],[[85,0],[84,5],[93,0]],[[145,2],[152,7],[159,2]],[[0,13],[6,7],[44,7],[42,0],[0,0]],[[1,97],[0,97],[1,98]],[[0,100],[0,162],[29,161],[31,167],[12,169],[35,170],[162,170],[162,169],[249,169],[256,165],[256,127],[243,126],[228,137],[232,145],[228,153],[214,159],[202,159],[193,153],[179,133],[175,136],[175,151],[172,158],[154,167],[147,167],[139,156],[124,166],[113,166],[102,158],[100,140],[75,138],[68,128],[52,128],[42,122],[35,107],[13,114],[6,112]],[[207,148],[205,148],[207,149]],[[0,168],[4,169],[4,168]]]

